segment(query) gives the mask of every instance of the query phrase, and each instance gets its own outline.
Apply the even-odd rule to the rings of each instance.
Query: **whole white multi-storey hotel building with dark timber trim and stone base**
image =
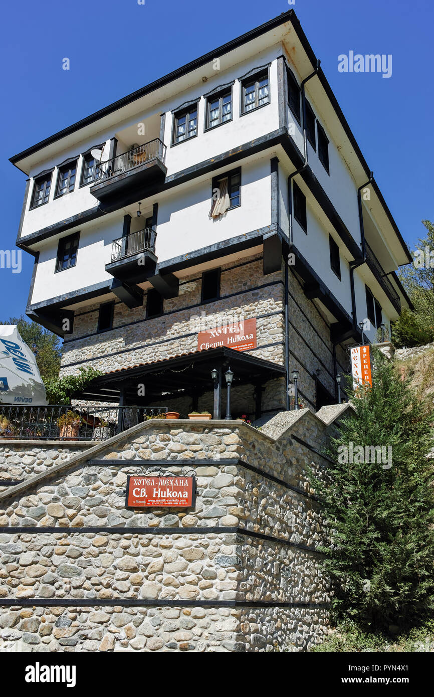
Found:
[[[412,258],[293,10],[11,162],[26,312],[65,339],[63,374],[102,371],[87,399],[212,408],[230,364],[240,413],[288,408],[292,369],[319,408],[359,323],[374,342],[409,305]],[[201,351],[228,317],[254,345]]]

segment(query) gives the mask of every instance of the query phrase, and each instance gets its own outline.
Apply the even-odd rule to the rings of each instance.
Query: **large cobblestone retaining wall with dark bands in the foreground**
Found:
[[[324,443],[320,420],[306,418]],[[291,429],[274,439],[241,422],[147,422],[100,444],[102,464],[84,454],[40,472],[20,493],[0,493],[1,641],[38,651],[275,651],[319,642],[328,596],[315,547],[324,533],[304,475],[312,452]],[[162,466],[153,460],[164,473],[194,470],[194,509],[125,507],[127,473],[148,462],[155,474]],[[45,599],[60,604],[48,608]]]

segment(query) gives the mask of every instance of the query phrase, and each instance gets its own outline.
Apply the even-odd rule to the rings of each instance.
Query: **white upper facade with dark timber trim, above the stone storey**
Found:
[[[293,95],[309,75],[313,77],[305,86],[308,105],[303,114],[301,92],[300,108]],[[192,137],[177,142],[183,128],[190,128]],[[107,162],[132,148],[142,152],[149,143],[160,148],[158,158],[165,168],[155,181],[150,176],[141,185],[131,178],[119,184],[114,198],[105,199],[98,181],[92,176],[86,181],[93,148]],[[272,171],[276,158],[277,175],[275,166]],[[95,302],[98,294],[106,299],[114,278],[106,265],[113,241],[125,233],[128,215],[130,232],[154,215],[157,273],[167,268],[180,277],[193,267],[219,266],[231,254],[251,254],[261,249],[269,230],[302,255],[309,273],[343,311],[351,315],[356,303],[357,323],[366,318],[365,286],[386,323],[398,316],[391,296],[395,293],[401,305],[407,302],[393,272],[411,257],[293,10],[11,161],[29,176],[17,244],[37,254],[29,307],[38,311],[43,305],[74,309]],[[239,205],[214,220],[209,215],[213,179],[237,170]],[[290,206],[288,178],[298,170]],[[295,210],[300,193],[296,203],[293,186],[306,199],[304,223]],[[139,201],[142,215],[137,218]],[[59,240],[77,233],[75,263],[59,269]],[[350,264],[363,256],[363,233],[374,261],[371,256],[371,265],[354,270],[352,291]],[[250,247],[232,249],[233,240],[242,236],[251,238]],[[339,252],[339,273],[336,264],[332,268],[333,245]],[[216,248],[218,254],[212,252]],[[186,257],[192,259],[190,266],[180,263]],[[383,273],[386,281],[380,279]],[[147,280],[138,285],[151,287]],[[375,332],[368,336],[373,340]]]

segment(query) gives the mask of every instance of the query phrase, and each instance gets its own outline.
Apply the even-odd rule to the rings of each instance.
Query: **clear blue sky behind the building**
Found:
[[[410,245],[433,210],[434,7],[426,0],[22,0],[3,5],[1,250],[26,177],[8,158],[293,8]],[[341,73],[339,54],[392,54],[392,77]],[[70,70],[62,70],[62,59]],[[24,314],[33,257],[0,268],[0,322]]]

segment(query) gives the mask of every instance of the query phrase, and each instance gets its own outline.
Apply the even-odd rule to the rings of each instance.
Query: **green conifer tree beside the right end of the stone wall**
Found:
[[[330,545],[320,549],[332,608],[336,620],[372,631],[412,626],[434,599],[434,476],[426,459],[432,415],[379,351],[373,387],[352,392],[351,400],[354,411],[327,452],[327,477],[311,473],[330,525]],[[380,462],[378,450],[373,457],[366,446],[386,446]]]

